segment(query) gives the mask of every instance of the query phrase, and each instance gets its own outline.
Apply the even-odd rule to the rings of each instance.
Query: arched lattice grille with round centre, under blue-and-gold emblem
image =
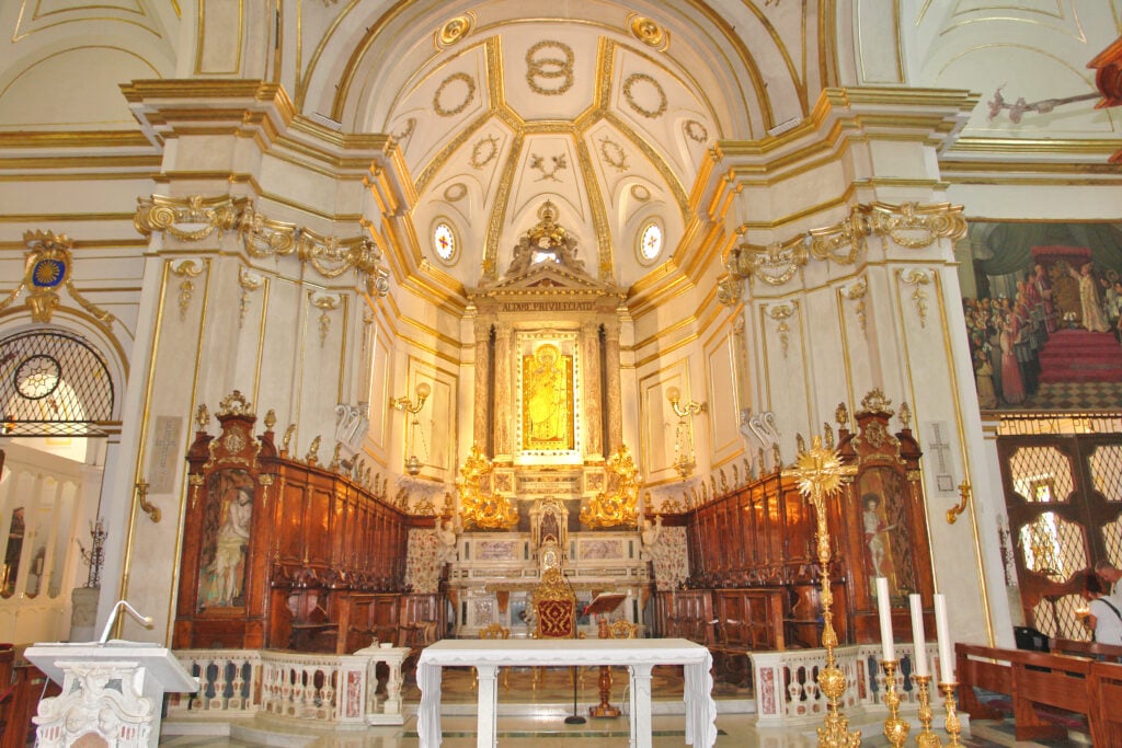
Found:
[[[100,436],[113,417],[113,381],[83,338],[20,333],[0,341],[0,407],[4,435]]]

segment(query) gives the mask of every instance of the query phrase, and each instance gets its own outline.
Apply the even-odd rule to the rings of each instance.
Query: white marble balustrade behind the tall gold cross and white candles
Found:
[[[896,644],[901,666],[896,669],[896,693],[900,709],[918,709],[919,698],[911,682],[914,649],[910,644]],[[936,663],[938,647],[927,647],[927,662]],[[888,709],[882,704],[885,692],[881,669],[880,645],[849,645],[834,650],[837,666],[846,676],[846,691],[840,705],[848,709]],[[827,699],[818,687],[818,673],[826,667],[825,649],[787,649],[749,652],[754,673],[756,711],[761,724],[780,724],[826,713]]]

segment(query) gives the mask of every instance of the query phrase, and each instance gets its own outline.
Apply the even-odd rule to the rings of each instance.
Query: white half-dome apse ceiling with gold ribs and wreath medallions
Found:
[[[697,3],[688,21],[675,15],[689,8],[656,19],[562,3],[578,18],[530,3],[539,15],[527,18],[526,4],[380,19],[341,75],[333,113],[399,144],[422,268],[487,285],[549,201],[589,274],[627,287],[682,240],[708,149],[773,123],[766,86],[738,35]],[[795,35],[804,20],[792,16]],[[801,111],[806,94],[792,99]]]

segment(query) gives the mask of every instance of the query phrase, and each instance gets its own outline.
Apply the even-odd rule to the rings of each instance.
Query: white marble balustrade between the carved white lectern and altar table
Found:
[[[263,713],[332,724],[401,724],[402,663],[408,652],[378,646],[352,655],[177,650],[183,666],[199,677],[199,691],[174,700],[168,717]]]

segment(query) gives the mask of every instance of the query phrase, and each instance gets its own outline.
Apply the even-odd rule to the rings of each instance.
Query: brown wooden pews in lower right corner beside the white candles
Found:
[[[1002,717],[978,700],[974,689],[984,689],[1012,700],[1018,740],[1066,738],[1067,728],[1046,711],[1058,709],[1086,717],[1094,745],[1122,745],[1104,737],[1122,729],[1122,715],[1112,718],[1112,708],[1106,705],[1122,700],[1122,665],[1076,655],[969,644],[956,644],[955,654],[959,704],[972,718]]]

